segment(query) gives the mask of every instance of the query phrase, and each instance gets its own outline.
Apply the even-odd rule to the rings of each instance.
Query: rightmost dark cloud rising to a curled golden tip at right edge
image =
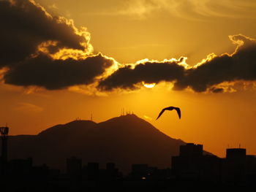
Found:
[[[256,80],[255,40],[243,35],[230,38],[238,44],[235,53],[232,55],[225,53],[195,69],[189,69],[184,78],[176,81],[174,88],[182,90],[190,87],[194,91],[203,92],[221,82]]]

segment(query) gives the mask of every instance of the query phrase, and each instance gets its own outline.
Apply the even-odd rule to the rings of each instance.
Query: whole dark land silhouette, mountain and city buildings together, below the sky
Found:
[[[99,124],[78,119],[34,137],[9,137],[9,127],[0,132],[2,191],[233,189],[252,188],[256,180],[256,156],[246,148],[227,148],[219,158],[134,114]]]

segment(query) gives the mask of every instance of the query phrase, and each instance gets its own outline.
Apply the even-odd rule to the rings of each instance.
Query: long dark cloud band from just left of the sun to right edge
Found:
[[[137,88],[138,82],[174,82],[175,90],[192,88],[196,92],[207,91],[220,93],[222,88],[214,88],[222,82],[236,80],[256,80],[256,42],[244,35],[230,36],[237,45],[236,52],[215,56],[203,64],[186,69],[174,63],[148,62],[135,66],[118,69],[99,82],[99,88]]]

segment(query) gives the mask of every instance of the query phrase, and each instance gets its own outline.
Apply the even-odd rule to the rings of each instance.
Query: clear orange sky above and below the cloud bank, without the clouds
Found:
[[[144,58],[163,61],[181,56],[194,66],[210,53],[234,53],[237,45],[229,35],[256,38],[256,4],[249,0],[232,4],[216,0],[36,2],[51,15],[72,19],[77,28],[86,27],[94,54],[113,58],[119,67]],[[78,117],[89,119],[91,113],[95,122],[108,120],[124,108],[170,137],[203,144],[205,150],[221,157],[227,146],[238,145],[246,147],[247,154],[256,154],[255,80],[239,80],[232,86],[224,82],[224,93],[174,91],[172,87],[173,82],[160,82],[135,91],[100,91],[93,85],[46,90],[7,85],[3,80],[0,123],[7,123],[12,135],[37,134]],[[181,108],[181,120],[174,112],[166,112],[156,121],[159,110],[168,106]]]

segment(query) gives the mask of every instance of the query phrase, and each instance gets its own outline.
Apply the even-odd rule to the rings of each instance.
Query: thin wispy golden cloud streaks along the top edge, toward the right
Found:
[[[126,0],[116,11],[91,12],[93,15],[126,15],[146,19],[156,12],[187,20],[208,18],[256,18],[256,2],[249,0]]]

